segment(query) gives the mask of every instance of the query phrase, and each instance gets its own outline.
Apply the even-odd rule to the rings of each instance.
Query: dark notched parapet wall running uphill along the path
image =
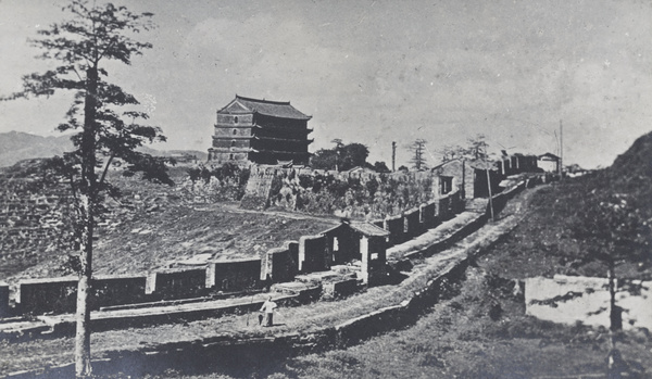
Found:
[[[536,179],[535,179],[536,180]],[[532,182],[522,180],[510,190],[493,198],[501,209],[507,199]],[[401,243],[437,226],[463,210],[460,192],[429,201],[404,215],[374,222],[389,231],[387,245]],[[460,231],[475,230],[479,218]],[[457,236],[451,236],[452,239]],[[441,244],[439,248],[443,248]],[[93,308],[135,304],[156,300],[176,300],[212,295],[218,292],[241,292],[260,289],[272,282],[290,281],[301,273],[329,268],[328,239],[324,235],[303,236],[299,242],[289,241],[283,248],[272,249],[259,260],[213,262],[205,268],[163,270],[147,276],[98,277],[93,283],[97,299]],[[271,282],[267,282],[266,279]],[[22,280],[17,285],[16,307],[11,314],[70,313],[75,311],[76,277]],[[0,313],[8,308],[10,295],[7,286],[0,286]]]

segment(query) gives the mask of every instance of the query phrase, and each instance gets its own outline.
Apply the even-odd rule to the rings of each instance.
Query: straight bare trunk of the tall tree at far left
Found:
[[[82,184],[79,187],[79,282],[77,286],[77,314],[75,334],[75,375],[86,378],[91,375],[90,366],[90,290],[92,277],[92,240],[98,179],[96,175],[96,115],[98,70],[86,72],[86,98],[84,102],[84,131],[82,134]]]

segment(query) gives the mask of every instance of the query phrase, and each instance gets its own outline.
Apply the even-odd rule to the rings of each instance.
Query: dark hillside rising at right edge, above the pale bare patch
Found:
[[[640,137],[611,167],[539,190],[527,216],[496,247],[494,252],[509,254],[492,269],[510,278],[554,274],[604,277],[606,271],[601,265],[577,265],[572,261],[574,253],[597,248],[594,242],[576,236],[573,228],[581,206],[615,197],[626,199],[640,219],[647,220],[642,227],[647,247],[630,251],[632,257],[642,256],[642,262],[622,265],[617,273],[626,278],[652,278],[651,163],[652,132]]]

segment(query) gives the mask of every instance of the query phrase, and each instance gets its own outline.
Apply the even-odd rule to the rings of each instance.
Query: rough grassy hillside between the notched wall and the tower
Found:
[[[71,274],[72,252],[65,250],[65,229],[59,224],[65,222],[60,201],[67,188],[42,191],[35,187],[37,166],[37,162],[24,161],[0,169],[0,219],[7,222],[0,229],[0,280]],[[205,203],[181,185],[188,177],[186,168],[172,168],[171,177],[177,184],[174,187],[110,173],[110,181],[123,195],[109,201],[110,212],[97,230],[97,274],[143,273],[196,255],[259,257],[287,240],[315,235],[337,223],[335,218],[243,211],[237,202]]]

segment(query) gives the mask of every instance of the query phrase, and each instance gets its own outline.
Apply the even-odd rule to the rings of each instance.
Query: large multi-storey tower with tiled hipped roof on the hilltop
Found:
[[[290,102],[259,100],[236,94],[217,111],[209,161],[252,162],[258,164],[306,165],[308,116]]]

